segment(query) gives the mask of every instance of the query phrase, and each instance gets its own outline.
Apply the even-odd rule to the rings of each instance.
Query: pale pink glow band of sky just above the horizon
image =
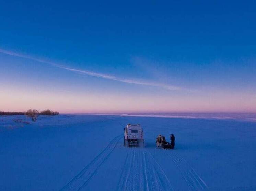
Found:
[[[77,95],[75,93],[39,92],[26,90],[1,90],[0,110],[25,111],[51,109],[60,113],[182,113],[182,112],[231,112],[255,113],[256,99],[244,95],[218,95],[211,99],[200,96],[189,98],[169,98],[168,96],[137,95]],[[241,96],[240,96],[241,97]],[[246,99],[246,103],[244,101]],[[129,103],[129,104],[128,104]]]

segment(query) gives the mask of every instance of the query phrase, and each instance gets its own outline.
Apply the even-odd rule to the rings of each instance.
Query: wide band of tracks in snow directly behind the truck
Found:
[[[144,148],[127,149],[127,158],[116,191],[173,191],[159,163]]]

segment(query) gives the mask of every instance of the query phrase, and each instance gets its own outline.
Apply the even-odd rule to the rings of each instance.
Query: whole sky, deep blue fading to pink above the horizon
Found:
[[[3,1],[0,110],[256,113],[255,1]]]

